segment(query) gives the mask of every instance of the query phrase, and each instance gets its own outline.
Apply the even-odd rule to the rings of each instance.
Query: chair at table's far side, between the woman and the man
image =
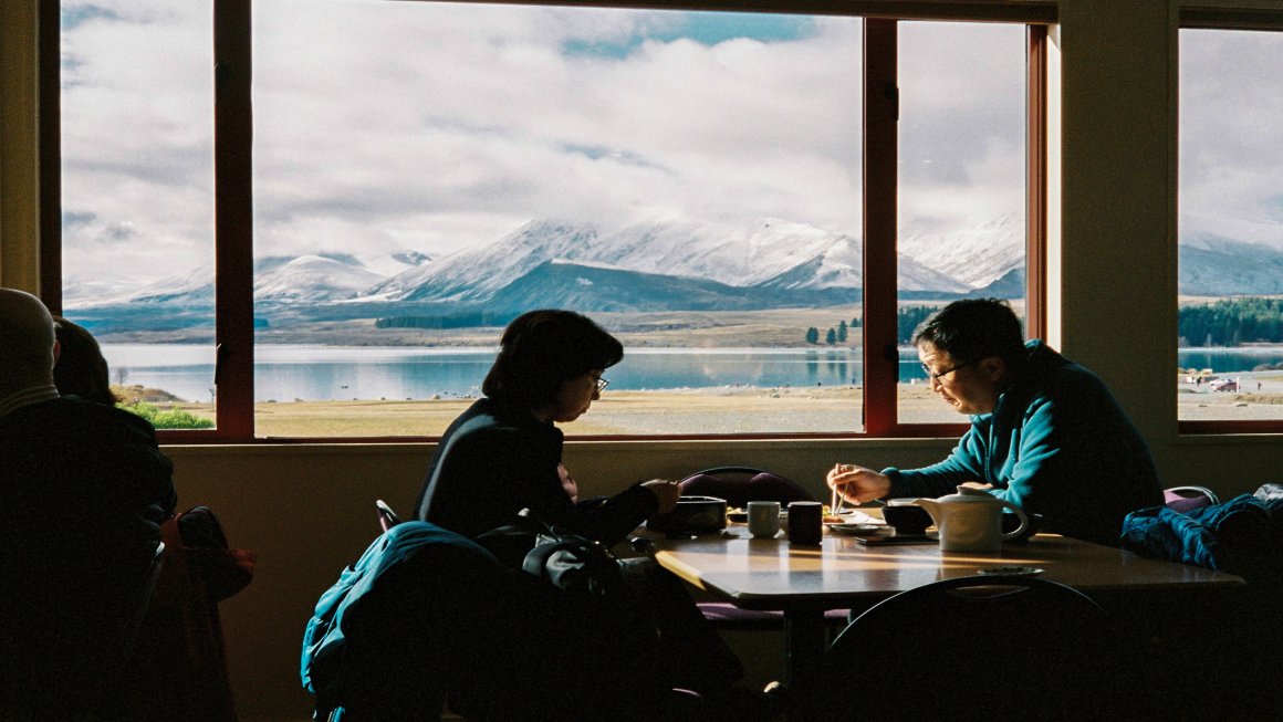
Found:
[[[748,507],[749,501],[815,501],[797,482],[753,467],[715,467],[695,472],[677,482],[684,496],[716,496],[727,507]],[[701,601],[699,612],[718,630],[774,631],[784,628],[784,613],[740,609],[727,601]],[[830,609],[825,622],[840,627],[849,621],[849,610]]]

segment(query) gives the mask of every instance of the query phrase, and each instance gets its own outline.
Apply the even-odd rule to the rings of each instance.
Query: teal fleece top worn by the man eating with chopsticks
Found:
[[[888,468],[890,496],[942,496],[965,481],[1042,514],[1041,531],[1119,545],[1123,518],[1162,504],[1150,449],[1105,383],[1042,341],[992,413],[949,458],[920,469]]]

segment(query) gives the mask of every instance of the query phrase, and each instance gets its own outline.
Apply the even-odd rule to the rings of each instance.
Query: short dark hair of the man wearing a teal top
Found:
[[[1002,299],[962,299],[942,308],[913,333],[913,345],[930,344],[960,362],[1021,358],[1025,333],[1011,304]]]

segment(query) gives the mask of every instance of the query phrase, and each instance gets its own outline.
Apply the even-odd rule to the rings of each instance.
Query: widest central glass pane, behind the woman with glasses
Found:
[[[571,433],[860,428],[860,21],[254,13],[259,435],[440,433],[548,306],[626,348]]]

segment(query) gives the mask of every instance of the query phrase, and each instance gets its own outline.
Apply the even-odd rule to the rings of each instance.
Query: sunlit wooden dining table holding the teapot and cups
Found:
[[[988,567],[1038,567],[1043,578],[1088,595],[1245,583],[1234,575],[1049,533],[974,554],[943,553],[938,544],[866,546],[829,530],[819,546],[801,546],[780,537],[752,539],[743,525],[731,525],[721,535],[654,540],[649,553],[677,577],[736,607],[783,610],[786,681],[799,678],[824,654],[826,609],[858,613],[899,591]]]

